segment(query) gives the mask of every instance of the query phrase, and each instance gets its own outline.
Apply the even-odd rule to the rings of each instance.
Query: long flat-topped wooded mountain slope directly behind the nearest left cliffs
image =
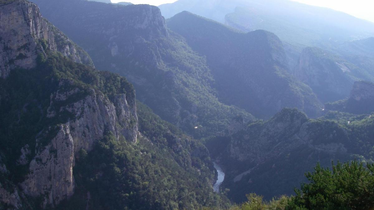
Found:
[[[252,118],[218,101],[205,58],[166,29],[157,7],[80,0],[34,2],[87,50],[97,68],[126,76],[138,99],[164,120],[198,137],[223,130],[237,114]]]

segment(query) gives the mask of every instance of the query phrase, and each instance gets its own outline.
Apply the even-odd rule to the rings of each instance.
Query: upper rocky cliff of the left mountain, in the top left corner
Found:
[[[76,62],[93,65],[89,56],[42,18],[39,8],[22,0],[0,5],[0,77],[6,78],[14,68],[36,66],[43,47],[61,52]]]

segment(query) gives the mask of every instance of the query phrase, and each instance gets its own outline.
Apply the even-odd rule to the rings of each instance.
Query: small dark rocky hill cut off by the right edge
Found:
[[[371,114],[374,112],[374,83],[356,81],[349,98],[327,103],[327,110],[349,112],[352,114]]]

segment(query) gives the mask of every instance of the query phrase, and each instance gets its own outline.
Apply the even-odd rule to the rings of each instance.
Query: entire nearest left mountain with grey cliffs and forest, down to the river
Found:
[[[213,192],[206,147],[137,101],[124,77],[95,70],[35,4],[0,1],[0,11],[0,58],[7,58],[0,63],[6,72],[0,78],[0,209],[227,203]]]

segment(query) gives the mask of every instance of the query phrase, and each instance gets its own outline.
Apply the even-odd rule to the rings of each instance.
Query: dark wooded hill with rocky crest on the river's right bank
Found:
[[[351,117],[350,123],[339,124],[283,109],[268,121],[245,124],[237,132],[208,140],[207,145],[224,169],[221,188],[230,189],[230,199],[240,203],[254,192],[270,200],[293,194],[291,186],[306,182],[304,172],[313,170],[316,162],[329,167],[332,160],[372,158],[373,119]],[[217,146],[221,149],[214,150]]]

